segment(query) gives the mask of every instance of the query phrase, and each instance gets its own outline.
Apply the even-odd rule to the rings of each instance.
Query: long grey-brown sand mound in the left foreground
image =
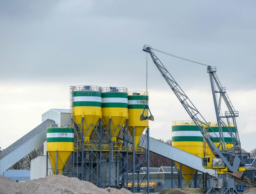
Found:
[[[122,189],[98,188],[92,183],[62,175],[17,183],[0,175],[0,194],[132,194]]]

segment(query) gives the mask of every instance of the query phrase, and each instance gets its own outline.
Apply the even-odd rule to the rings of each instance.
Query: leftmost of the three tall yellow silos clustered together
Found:
[[[76,124],[80,126],[82,133],[82,118],[83,135],[85,141],[89,141],[90,134],[101,117],[101,87],[99,86],[82,86],[76,87],[73,92],[73,117]]]

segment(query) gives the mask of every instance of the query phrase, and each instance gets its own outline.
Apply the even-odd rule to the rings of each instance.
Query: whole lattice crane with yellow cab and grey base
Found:
[[[213,194],[213,193],[216,193],[217,191],[219,194],[225,194],[225,193],[239,194],[234,186],[234,179],[228,177],[227,175],[227,172],[237,172],[237,170],[239,171],[245,170],[245,164],[243,162],[242,155],[241,155],[241,143],[239,140],[236,120],[235,120],[235,118],[238,116],[238,111],[235,111],[230,99],[228,98],[228,95],[226,93],[226,88],[221,86],[220,81],[216,75],[216,67],[211,67],[206,65],[207,72],[210,75],[215,114],[217,118],[218,130],[219,130],[218,135],[212,130],[210,124],[206,122],[204,117],[200,114],[200,112],[197,110],[197,108],[194,106],[194,104],[191,102],[188,96],[184,93],[184,91],[175,81],[173,76],[171,76],[171,74],[164,67],[164,65],[159,60],[159,58],[154,54],[153,50],[156,50],[156,49],[148,45],[144,45],[142,49],[142,51],[145,51],[151,55],[151,58],[155,63],[156,67],[158,68],[158,70],[160,71],[161,75],[166,80],[171,90],[173,90],[174,94],[177,96],[182,106],[188,112],[192,121],[198,127],[199,131],[202,133],[204,137],[204,140],[209,146],[211,152],[215,156],[215,158],[213,157],[202,158],[202,164],[204,168],[214,169],[218,171],[217,174],[213,175],[211,179],[211,188],[207,191],[206,194],[208,193]],[[168,54],[168,53],[165,53],[165,54]],[[168,54],[168,55],[171,55],[171,54]],[[182,57],[178,57],[178,58],[184,59]],[[187,61],[191,61],[191,60],[187,60]],[[191,61],[191,62],[194,62],[194,61]],[[199,63],[199,64],[202,64],[202,63]],[[218,96],[217,94],[219,94],[218,98],[217,98]],[[228,110],[225,111],[225,116],[222,115],[222,111],[221,111],[222,101],[225,101],[225,104],[228,108]],[[227,120],[227,122],[225,122],[225,119]],[[232,132],[231,130],[231,119],[233,121],[233,127],[235,128],[235,132]],[[225,135],[223,132],[224,129],[232,138],[233,147],[231,149],[226,148],[225,139],[224,139]]]

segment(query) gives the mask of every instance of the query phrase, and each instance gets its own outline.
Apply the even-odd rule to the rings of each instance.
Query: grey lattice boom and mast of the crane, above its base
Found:
[[[213,163],[214,163],[214,161],[217,161],[218,158],[219,158],[218,159],[219,161],[222,161],[222,162],[220,162],[221,163],[220,166],[215,166],[215,167],[223,168],[223,166],[221,166],[221,165],[222,165],[222,163],[224,163],[225,166],[227,167],[226,171],[237,172],[237,169],[239,169],[239,167],[243,165],[243,163],[240,162],[240,158],[242,158],[241,157],[241,146],[240,146],[239,135],[237,132],[237,127],[236,127],[235,118],[234,118],[234,117],[238,116],[238,112],[235,111],[226,92],[220,92],[222,98],[224,99],[224,101],[228,107],[228,112],[226,113],[225,117],[218,115],[218,111],[220,109],[218,107],[218,105],[220,106],[220,102],[217,103],[217,100],[214,99],[215,100],[214,101],[215,111],[217,112],[216,113],[217,121],[218,121],[217,123],[218,123],[218,128],[219,128],[219,131],[215,132],[212,129],[211,125],[206,122],[204,117],[200,114],[200,112],[197,110],[197,108],[193,105],[193,103],[190,101],[188,96],[183,92],[183,90],[178,85],[178,83],[175,81],[175,79],[171,76],[169,71],[164,67],[164,65],[159,60],[159,58],[156,57],[156,55],[153,52],[153,48],[151,48],[148,45],[144,45],[142,50],[151,55],[151,58],[152,58],[153,62],[155,63],[156,67],[158,68],[158,70],[160,71],[161,75],[164,77],[164,79],[166,80],[168,85],[171,87],[171,89],[177,96],[178,100],[181,102],[182,106],[185,108],[185,110],[188,112],[188,114],[191,117],[191,119],[193,120],[193,122],[196,124],[198,129],[201,131],[211,152],[216,157],[216,160],[214,159]],[[158,50],[156,50],[156,51],[158,51]],[[162,53],[164,53],[164,52],[162,52]],[[165,53],[165,54],[168,54],[168,53]],[[168,55],[171,55],[171,54],[168,54]],[[177,56],[175,56],[175,57],[177,57]],[[178,58],[185,59],[183,57],[178,57]],[[195,62],[195,61],[191,61],[188,59],[185,59],[185,60],[190,61],[190,62]],[[198,62],[195,62],[195,63],[198,63]],[[198,64],[202,64],[202,63],[198,63]],[[203,64],[203,65],[205,65],[205,64]],[[220,85],[219,79],[217,78],[216,73],[215,73],[216,67],[207,66],[207,72],[210,73],[210,76],[213,76],[214,80],[216,80],[216,82],[219,84],[218,88],[220,88],[222,90],[222,86]],[[215,95],[215,91],[214,91],[214,95]],[[235,125],[235,129],[236,129],[235,134],[233,134],[233,132],[231,130],[231,126],[230,126],[231,122],[229,121],[229,118],[231,118],[231,117],[233,118],[232,121],[233,121],[233,124]],[[228,121],[227,124],[224,122],[223,118],[227,119],[227,121]],[[202,126],[205,129],[202,129]],[[223,132],[224,130],[227,131],[227,133],[230,133],[231,137],[234,140],[233,143],[235,146],[229,150],[227,150],[226,146],[225,146],[225,138],[224,138],[224,132]],[[209,133],[209,131],[211,133]],[[218,145],[215,142],[219,142]],[[215,162],[215,163],[218,163],[218,162]],[[217,164],[215,164],[215,165],[217,165]],[[211,168],[213,168],[213,167],[214,166],[211,166]]]

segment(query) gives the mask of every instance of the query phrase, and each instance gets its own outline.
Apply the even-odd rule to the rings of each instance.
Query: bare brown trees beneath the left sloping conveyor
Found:
[[[38,156],[42,156],[44,154],[44,144],[41,144],[39,147],[34,149],[20,161],[16,162],[12,165],[9,170],[29,170],[30,169],[30,161]]]

